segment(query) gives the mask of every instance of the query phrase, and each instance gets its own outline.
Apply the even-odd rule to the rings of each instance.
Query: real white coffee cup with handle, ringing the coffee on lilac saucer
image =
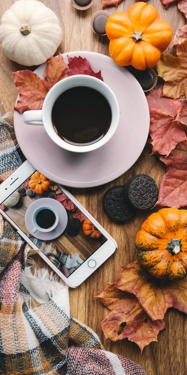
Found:
[[[59,95],[61,95],[62,92],[70,89],[71,87],[77,86],[86,86],[98,90],[107,99],[111,108],[111,124],[107,133],[103,136],[103,138],[99,139],[99,141],[85,146],[73,145],[61,139],[56,133],[51,119],[53,104],[55,103]],[[98,78],[80,74],[64,78],[63,80],[56,83],[47,93],[46,98],[43,102],[42,110],[24,112],[24,122],[30,125],[43,125],[52,141],[58,144],[58,146],[65,148],[65,150],[73,152],[88,152],[101,147],[114,135],[119,123],[119,114],[119,104],[110,87],[108,87],[107,84],[105,84]]]

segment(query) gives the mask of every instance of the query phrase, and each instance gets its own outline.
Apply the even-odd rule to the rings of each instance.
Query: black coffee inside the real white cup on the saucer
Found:
[[[56,99],[52,108],[52,123],[64,141],[89,145],[107,133],[111,123],[110,104],[95,89],[72,87]]]

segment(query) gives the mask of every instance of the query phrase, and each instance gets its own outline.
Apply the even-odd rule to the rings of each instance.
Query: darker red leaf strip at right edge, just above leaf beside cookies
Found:
[[[159,159],[171,168],[175,168],[181,163],[187,165],[187,139],[184,142],[178,143],[167,157],[159,155]]]

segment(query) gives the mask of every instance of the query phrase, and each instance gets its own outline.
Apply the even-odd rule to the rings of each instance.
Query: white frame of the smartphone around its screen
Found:
[[[36,171],[36,168],[34,168],[31,163],[26,160],[24,163],[22,163],[21,166],[16,169],[15,172],[13,172],[9,177],[6,178],[3,183],[0,184],[0,203],[4,202],[6,198],[8,198],[9,195],[11,195],[18,187],[27,180],[28,177],[30,177],[31,174],[33,174]],[[53,263],[46,257],[45,254],[42,253],[42,251],[39,250],[39,248],[34,245],[34,243],[27,237],[27,235],[19,228],[16,223],[13,222],[12,219],[6,214],[6,211],[4,212],[0,208],[0,213],[4,216],[4,218],[10,222],[10,224],[17,230],[17,232],[20,234],[21,237],[24,238],[24,240],[33,248],[38,250],[38,254],[40,257],[59,275],[64,282],[71,288],[76,288],[80,284],[82,284],[83,281],[85,281],[92,273],[101,266],[102,263],[104,263],[105,260],[107,260],[117,249],[117,243],[116,241],[108,234],[104,228],[91,216],[91,214],[71,195],[70,192],[64,189],[60,184],[56,183],[56,185],[64,192],[68,198],[73,201],[74,204],[87,216],[95,225],[98,227],[98,229],[101,231],[101,233],[106,237],[107,241],[100,246],[99,249],[97,249],[77,270],[75,270],[68,278],[66,278],[63,273],[61,273],[56,266],[53,265]],[[90,268],[88,266],[89,260],[95,260],[96,266],[94,268]]]

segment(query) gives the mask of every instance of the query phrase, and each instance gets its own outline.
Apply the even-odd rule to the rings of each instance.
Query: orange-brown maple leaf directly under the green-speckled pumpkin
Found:
[[[187,277],[175,281],[157,279],[136,261],[122,267],[116,286],[134,293],[153,320],[163,319],[170,307],[187,314]]]

